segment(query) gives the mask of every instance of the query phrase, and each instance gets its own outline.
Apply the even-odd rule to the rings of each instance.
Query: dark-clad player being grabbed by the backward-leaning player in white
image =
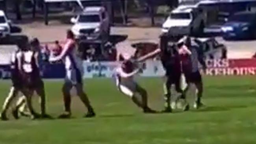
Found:
[[[181,65],[180,57],[178,54],[178,48],[175,42],[172,45],[168,44],[169,37],[167,35],[161,35],[160,38],[160,56],[161,62],[165,69],[164,77],[164,95],[165,95],[165,109],[163,112],[172,112],[171,109],[171,85],[175,85],[176,92],[181,94],[181,98],[185,98],[184,91],[180,87],[181,78]],[[186,110],[186,108],[184,109]]]

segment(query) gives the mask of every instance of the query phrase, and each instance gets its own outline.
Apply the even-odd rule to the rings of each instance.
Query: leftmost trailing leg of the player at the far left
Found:
[[[19,92],[18,89],[16,89],[15,87],[11,87],[10,92],[9,92],[6,100],[4,101],[4,105],[2,108],[2,112],[1,112],[1,116],[0,116],[2,120],[7,120],[6,111],[9,108],[10,103],[17,96],[18,92]]]

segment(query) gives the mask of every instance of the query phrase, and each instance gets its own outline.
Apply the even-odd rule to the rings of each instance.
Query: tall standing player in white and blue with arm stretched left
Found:
[[[67,31],[67,41],[65,46],[60,55],[56,57],[50,57],[49,61],[59,61],[64,59],[65,61],[65,68],[66,68],[66,78],[65,83],[62,88],[63,92],[63,100],[64,100],[64,107],[65,112],[59,116],[59,118],[70,118],[71,116],[71,96],[70,90],[72,87],[76,88],[77,94],[82,100],[83,104],[87,107],[88,113],[85,117],[93,117],[95,113],[87,95],[83,91],[83,83],[82,83],[82,76],[83,76],[83,67],[82,67],[82,59],[78,57],[76,53],[76,42],[74,40],[74,34],[71,30]]]

